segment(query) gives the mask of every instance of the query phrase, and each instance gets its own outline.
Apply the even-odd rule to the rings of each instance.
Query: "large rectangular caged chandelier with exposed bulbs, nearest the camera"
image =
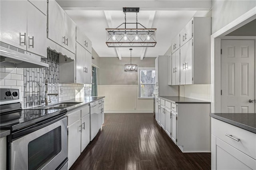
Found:
[[[139,10],[140,8],[123,8],[125,22],[117,28],[106,28],[108,47],[154,47],[156,45],[156,28],[148,29],[138,23]],[[136,12],[136,22],[126,22],[126,12]],[[128,25],[134,25],[136,28],[127,28]]]

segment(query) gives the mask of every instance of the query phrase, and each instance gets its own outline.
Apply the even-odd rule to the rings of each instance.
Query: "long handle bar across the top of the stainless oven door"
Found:
[[[58,115],[56,117],[53,117],[53,118],[48,119],[46,121],[43,121],[41,123],[32,125],[30,127],[26,127],[24,129],[19,130],[18,132],[14,132],[12,134],[12,141],[14,141],[14,140],[16,140],[18,138],[21,138],[22,136],[25,136],[26,134],[34,132],[34,131],[36,131],[36,130],[38,130],[40,128],[47,127],[48,125],[51,125],[52,123],[58,122],[58,121],[60,121],[61,119],[65,118],[65,117],[67,117],[66,113],[64,115]]]

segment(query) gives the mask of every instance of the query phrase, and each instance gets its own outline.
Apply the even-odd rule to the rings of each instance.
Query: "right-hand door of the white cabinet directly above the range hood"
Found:
[[[28,2],[27,50],[47,57],[46,16]]]

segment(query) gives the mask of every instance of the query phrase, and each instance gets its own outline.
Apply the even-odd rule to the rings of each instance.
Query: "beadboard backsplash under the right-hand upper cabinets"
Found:
[[[211,85],[180,85],[180,96],[203,101],[211,101]]]

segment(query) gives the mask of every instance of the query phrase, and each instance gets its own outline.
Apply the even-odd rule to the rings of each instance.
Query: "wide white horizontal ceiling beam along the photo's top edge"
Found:
[[[130,0],[56,0],[64,10],[122,10],[131,6]],[[210,10],[211,0],[137,0],[132,6],[140,10]]]

